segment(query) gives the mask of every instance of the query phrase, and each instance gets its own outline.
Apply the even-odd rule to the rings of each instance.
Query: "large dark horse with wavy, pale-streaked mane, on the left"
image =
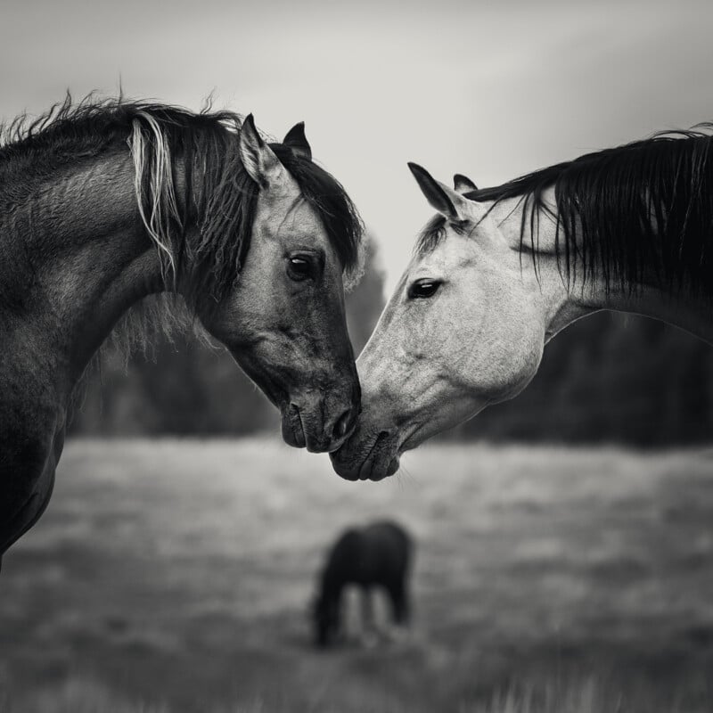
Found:
[[[340,445],[359,407],[342,281],[362,225],[303,125],[268,144],[251,116],[68,97],[3,144],[0,555],[50,498],[86,365],[152,294],[143,318],[188,307],[281,409],[288,443]]]

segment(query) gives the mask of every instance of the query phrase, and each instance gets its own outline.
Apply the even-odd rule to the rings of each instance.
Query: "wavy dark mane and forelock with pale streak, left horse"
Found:
[[[176,279],[188,262],[188,298],[200,292],[219,300],[238,279],[250,249],[258,198],[238,152],[241,125],[238,114],[209,107],[194,113],[92,95],[74,103],[68,95],[35,119],[21,115],[0,126],[0,199],[20,202],[38,180],[126,150],[128,143],[138,207],[165,276]],[[363,226],[341,184],[288,146],[270,146],[321,219],[345,273],[355,273]],[[178,162],[182,183],[176,180]],[[186,231],[189,220],[198,231]]]

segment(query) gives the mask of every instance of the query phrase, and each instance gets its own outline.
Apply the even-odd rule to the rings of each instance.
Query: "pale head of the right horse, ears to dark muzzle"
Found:
[[[404,451],[515,396],[544,348],[547,319],[519,237],[504,233],[490,205],[465,197],[475,185],[464,176],[454,190],[410,168],[438,215],[357,359],[362,415],[332,454],[347,479],[391,475]]]

